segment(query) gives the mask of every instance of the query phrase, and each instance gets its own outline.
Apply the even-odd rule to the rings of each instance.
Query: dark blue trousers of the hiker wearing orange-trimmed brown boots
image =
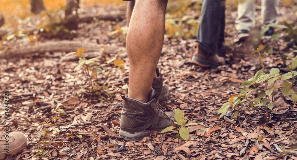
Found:
[[[224,20],[222,20],[224,19]],[[224,23],[224,25],[222,25]],[[197,40],[199,49],[208,54],[217,53],[218,44],[224,42],[225,1],[204,0]]]

